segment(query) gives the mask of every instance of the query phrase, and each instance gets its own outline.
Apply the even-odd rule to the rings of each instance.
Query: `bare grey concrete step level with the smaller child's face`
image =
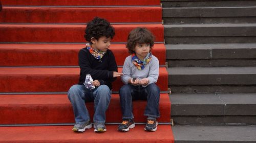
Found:
[[[166,44],[169,67],[256,66],[255,43]]]

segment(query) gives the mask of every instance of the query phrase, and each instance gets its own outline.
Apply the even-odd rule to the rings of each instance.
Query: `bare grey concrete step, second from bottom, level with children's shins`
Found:
[[[175,125],[256,124],[256,93],[170,94]]]

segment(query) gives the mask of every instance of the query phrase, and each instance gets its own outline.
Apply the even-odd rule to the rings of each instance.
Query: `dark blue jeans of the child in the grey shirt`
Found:
[[[160,117],[160,89],[156,84],[150,84],[146,87],[125,84],[119,90],[119,96],[123,118],[134,118],[133,100],[147,100],[144,116]]]

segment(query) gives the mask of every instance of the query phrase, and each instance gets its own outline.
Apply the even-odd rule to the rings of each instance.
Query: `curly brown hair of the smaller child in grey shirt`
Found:
[[[129,50],[130,54],[134,54],[137,43],[149,43],[150,50],[152,50],[154,42],[155,36],[147,28],[137,27],[129,33],[126,48]]]

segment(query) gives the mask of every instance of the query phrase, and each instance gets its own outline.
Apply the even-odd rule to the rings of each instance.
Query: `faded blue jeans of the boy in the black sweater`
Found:
[[[73,106],[76,124],[90,121],[90,115],[86,108],[86,102],[94,101],[94,123],[105,123],[105,111],[109,107],[111,90],[106,85],[100,85],[95,89],[88,89],[84,85],[73,85],[68,91],[68,98]]]

